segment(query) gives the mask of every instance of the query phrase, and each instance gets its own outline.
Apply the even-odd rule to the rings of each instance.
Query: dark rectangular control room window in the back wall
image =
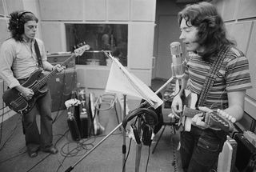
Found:
[[[127,66],[127,24],[66,24],[66,49],[73,51],[78,44],[90,46],[82,56],[76,58],[78,65],[106,66],[107,57],[102,50],[108,50]]]

